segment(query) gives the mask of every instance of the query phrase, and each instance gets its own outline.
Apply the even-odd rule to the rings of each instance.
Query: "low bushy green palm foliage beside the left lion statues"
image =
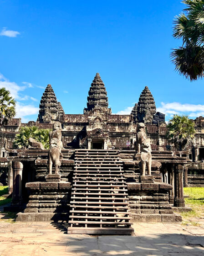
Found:
[[[49,149],[49,132],[50,129],[38,129],[37,126],[22,126],[19,133],[15,135],[14,146],[17,149],[27,149],[29,138],[41,142],[45,149]]]

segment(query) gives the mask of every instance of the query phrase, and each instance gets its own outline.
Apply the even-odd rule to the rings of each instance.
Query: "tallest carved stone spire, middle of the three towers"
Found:
[[[84,113],[91,111],[96,106],[100,106],[103,110],[107,110],[107,91],[99,73],[94,77],[88,92],[87,101],[87,108],[84,109]]]

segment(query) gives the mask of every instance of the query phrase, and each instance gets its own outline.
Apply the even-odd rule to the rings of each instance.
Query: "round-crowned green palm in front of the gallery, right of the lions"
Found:
[[[169,120],[167,139],[172,142],[179,151],[193,143],[195,129],[194,122],[188,116],[174,115]]]

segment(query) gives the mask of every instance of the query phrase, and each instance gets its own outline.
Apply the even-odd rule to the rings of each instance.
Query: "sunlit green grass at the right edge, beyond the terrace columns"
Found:
[[[199,226],[195,219],[204,217],[204,187],[184,187],[185,204],[192,210],[181,213],[183,225]]]

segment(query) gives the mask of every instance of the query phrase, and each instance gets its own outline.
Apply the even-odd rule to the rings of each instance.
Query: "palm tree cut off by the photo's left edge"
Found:
[[[15,117],[15,100],[5,87],[0,88],[0,126]]]

